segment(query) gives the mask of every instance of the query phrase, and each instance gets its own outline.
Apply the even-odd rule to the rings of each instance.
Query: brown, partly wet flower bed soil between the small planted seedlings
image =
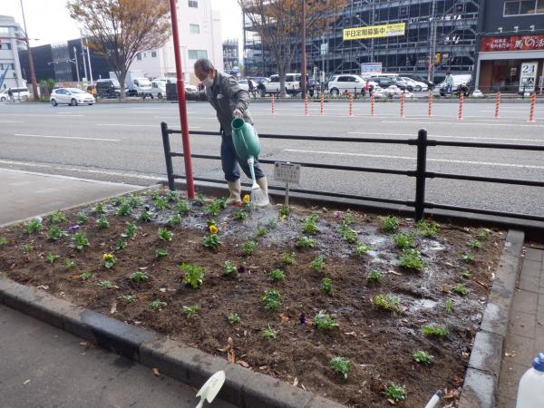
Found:
[[[277,208],[269,208],[250,212],[247,219],[240,221],[233,216],[238,209],[223,209],[215,217],[222,241],[216,252],[202,244],[208,234],[206,221],[210,219],[204,215],[207,204],[189,205],[189,214],[181,224],[169,228],[172,241],[165,242],[158,237],[158,228],[165,227],[173,209],[156,211],[150,196],[141,197],[142,205],[134,208],[131,216],[114,215],[118,207],[112,201],[107,203],[110,227],[106,229],[97,228],[98,216],[91,207],[83,209],[89,219],[79,231],[86,231],[90,246],[82,252],[70,248],[70,237],[48,240],[48,219],[43,221],[44,229],[35,234],[25,234],[22,226],[0,230],[0,238],[7,240],[0,247],[0,273],[345,405],[390,406],[384,389],[392,382],[406,387],[407,398],[400,405],[422,407],[438,389],[447,392],[448,406],[456,405],[471,342],[500,257],[503,232],[487,230],[489,237],[481,239],[482,248],[478,250],[471,250],[467,243],[481,228],[441,225],[434,238],[416,234],[416,248],[428,263],[418,272],[396,266],[400,250],[393,244],[393,234],[380,230],[380,218],[374,215],[349,213],[355,218],[350,227],[361,242],[372,248],[362,257],[355,257],[354,246],[340,238],[337,231],[345,213],[292,207],[291,215],[282,220]],[[151,209],[151,222],[136,221],[134,238],[128,240],[126,248],[115,251],[125,223],[135,221],[145,205]],[[67,212],[70,221],[60,224],[69,235],[74,233],[71,226],[77,212]],[[316,248],[296,248],[304,219],[315,213],[319,215]],[[269,224],[272,219],[277,220],[276,226]],[[254,254],[244,256],[244,241],[267,224],[270,231],[256,238]],[[413,220],[400,219],[400,230],[414,231]],[[24,248],[24,244],[33,248]],[[166,249],[168,256],[157,260],[156,248]],[[108,269],[102,256],[110,252],[117,264]],[[287,252],[295,254],[296,265],[283,264],[282,254]],[[474,254],[471,263],[461,261],[461,254],[466,252]],[[52,265],[45,261],[48,253],[61,257]],[[325,271],[321,273],[310,267],[317,255],[325,257]],[[65,258],[75,262],[73,269],[64,269]],[[237,266],[245,264],[245,271],[237,277],[225,276],[227,260]],[[205,267],[202,287],[192,289],[181,283],[181,263]],[[273,284],[268,274],[275,268],[281,268],[286,277]],[[470,278],[461,277],[465,269],[470,271]],[[92,272],[87,280],[81,277],[85,270]],[[149,276],[148,281],[131,281],[130,275],[139,270]],[[367,281],[374,270],[383,276],[379,283]],[[333,296],[320,289],[323,277],[331,278]],[[110,280],[113,287],[100,287],[103,280]],[[468,296],[452,293],[452,287],[459,283],[469,289]],[[272,287],[281,294],[282,303],[276,311],[267,311],[261,296]],[[395,315],[375,306],[373,299],[379,294],[398,296],[402,313]],[[123,298],[127,295],[135,296],[135,302],[127,303]],[[157,299],[167,306],[152,310],[150,303]],[[447,299],[453,301],[451,314],[444,311]],[[193,305],[199,306],[197,316],[186,318],[183,306]],[[320,310],[334,315],[338,327],[316,330],[312,318]],[[238,313],[241,322],[229,324],[227,316],[231,313]],[[300,322],[302,313],[306,324]],[[277,338],[261,336],[268,325],[277,331]],[[443,325],[449,335],[423,335],[423,325]],[[432,364],[415,363],[416,350],[433,355]],[[352,364],[346,381],[329,366],[335,356],[345,357]]]

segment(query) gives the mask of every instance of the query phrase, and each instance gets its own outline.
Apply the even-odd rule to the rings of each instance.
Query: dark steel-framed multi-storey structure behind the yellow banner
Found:
[[[337,15],[333,28],[306,39],[307,67],[325,72],[361,73],[362,63],[382,63],[387,73],[444,76],[471,73],[477,58],[479,0],[352,0]],[[406,24],[404,35],[344,40],[345,28]],[[300,43],[298,37],[294,42]],[[244,18],[246,72],[277,73],[251,22]],[[291,63],[300,72],[300,53]]]

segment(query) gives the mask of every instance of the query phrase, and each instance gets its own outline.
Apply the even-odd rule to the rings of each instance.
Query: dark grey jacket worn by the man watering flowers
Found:
[[[232,112],[237,108],[243,113],[244,120],[253,124],[248,112],[249,93],[240,89],[236,79],[227,73],[218,71],[211,88],[199,92],[187,92],[186,96],[188,101],[211,103],[217,112],[221,129],[226,135],[232,134],[231,123],[234,119]]]

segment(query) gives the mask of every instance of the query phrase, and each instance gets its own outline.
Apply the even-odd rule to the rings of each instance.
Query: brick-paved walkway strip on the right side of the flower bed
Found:
[[[516,406],[521,375],[541,352],[544,352],[544,247],[528,247],[510,311],[497,407]]]

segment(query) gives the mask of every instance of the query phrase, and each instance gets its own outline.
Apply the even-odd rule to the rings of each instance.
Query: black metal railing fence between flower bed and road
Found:
[[[180,134],[181,131],[173,130],[168,127],[165,122],[160,124],[162,131],[162,143],[164,146],[164,156],[166,159],[166,172],[168,176],[168,185],[170,189],[174,189],[174,181],[176,179],[184,179],[185,176],[175,174],[173,170],[172,157],[183,157],[183,153],[173,152],[170,150],[170,134]],[[213,131],[189,131],[189,134],[201,135],[201,136],[218,136],[217,132]],[[445,209],[452,211],[461,211],[475,214],[510,217],[515,219],[528,219],[534,221],[544,221],[544,216],[511,213],[506,211],[494,211],[490,209],[475,209],[469,207],[451,206],[446,204],[438,204],[425,201],[425,183],[427,179],[446,179],[446,180],[467,180],[467,181],[481,181],[497,184],[510,184],[518,186],[530,186],[530,187],[544,187],[544,181],[535,180],[519,180],[519,179],[503,179],[498,177],[482,177],[482,176],[470,176],[464,174],[450,174],[442,172],[427,171],[427,148],[436,146],[448,146],[459,148],[473,148],[473,149],[499,149],[510,151],[544,151],[544,146],[527,145],[527,144],[505,144],[505,143],[476,143],[466,141],[435,141],[427,138],[427,131],[422,129],[418,132],[417,139],[379,139],[379,138],[351,138],[351,137],[335,137],[335,136],[301,136],[301,135],[287,135],[287,134],[260,134],[260,139],[277,139],[288,141],[335,141],[335,142],[349,142],[349,143],[384,143],[384,144],[400,144],[415,146],[417,148],[417,165],[415,170],[393,170],[393,169],[378,169],[361,166],[344,166],[336,164],[324,164],[314,162],[301,162],[297,161],[301,166],[313,169],[327,169],[327,170],[345,170],[345,171],[360,171],[368,173],[380,173],[380,174],[394,174],[399,176],[408,176],[415,178],[415,197],[414,200],[401,200],[401,199],[384,199],[379,197],[369,197],[354,194],[344,194],[334,191],[323,190],[309,190],[309,189],[289,189],[291,192],[314,194],[323,197],[337,198],[337,199],[355,199],[360,201],[374,201],[387,204],[398,204],[407,207],[413,207],[414,217],[416,220],[423,219],[425,209]],[[209,154],[191,154],[193,159],[208,159],[208,160],[220,160],[220,156]],[[259,159],[263,164],[274,164],[277,160],[265,160]],[[206,179],[195,177],[196,181],[208,181],[218,182],[221,180]],[[270,189],[281,189],[279,187],[270,186]]]

